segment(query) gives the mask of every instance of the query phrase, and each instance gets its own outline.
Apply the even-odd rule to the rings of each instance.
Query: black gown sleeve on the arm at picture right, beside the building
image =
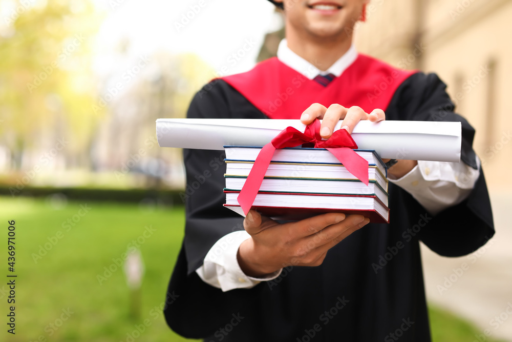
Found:
[[[386,110],[386,119],[460,122],[461,163],[477,169],[477,158],[472,148],[475,130],[466,119],[454,112],[455,106],[445,89],[446,85],[435,74],[413,74],[397,89]],[[398,191],[405,192],[402,189]],[[410,217],[420,217],[425,213],[425,209],[412,196],[402,195],[411,200],[409,210],[415,214]],[[493,235],[493,215],[482,170],[470,195],[462,203],[435,215],[428,226],[418,233],[426,246],[443,256],[471,253]]]

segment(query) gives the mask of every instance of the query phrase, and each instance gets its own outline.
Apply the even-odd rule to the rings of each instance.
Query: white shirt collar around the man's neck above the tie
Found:
[[[354,45],[351,45],[349,50],[339,59],[334,62],[334,64],[327,69],[326,71],[319,70],[314,65],[306,61],[306,59],[297,55],[295,52],[290,50],[287,45],[286,38],[279,43],[278,48],[278,59],[294,69],[297,72],[300,72],[304,76],[309,79],[315,78],[317,75],[327,75],[329,73],[334,76],[340,76],[357,58],[357,51],[355,50]]]

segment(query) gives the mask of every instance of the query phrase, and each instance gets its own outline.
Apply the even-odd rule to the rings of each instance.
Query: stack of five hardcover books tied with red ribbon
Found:
[[[237,197],[261,147],[224,146],[226,208],[244,215]],[[373,150],[354,150],[368,161],[365,185],[325,149],[275,150],[252,208],[278,220],[299,220],[327,212],[361,214],[389,223],[386,166]]]

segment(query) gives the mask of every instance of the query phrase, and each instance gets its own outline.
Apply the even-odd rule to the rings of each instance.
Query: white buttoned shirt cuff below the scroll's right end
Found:
[[[442,210],[461,203],[466,199],[480,175],[478,169],[460,163],[429,162],[418,160],[408,174],[393,179],[391,183],[409,192],[430,214],[436,215]]]

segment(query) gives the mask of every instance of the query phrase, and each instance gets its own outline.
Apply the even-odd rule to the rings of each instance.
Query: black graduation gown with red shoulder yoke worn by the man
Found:
[[[400,71],[359,55],[327,87],[271,58],[253,70],[216,79],[194,97],[190,118],[300,118],[312,103],[366,112],[388,120],[462,123],[462,162],[476,168],[474,129],[454,113],[435,74]],[[494,226],[483,172],[470,196],[436,216],[390,183],[390,224],[368,224],[329,250],[318,267],[287,267],[252,289],[222,292],[196,273],[217,240],[243,229],[223,208],[223,151],[184,150],[187,184],[211,176],[186,199],[183,246],[164,309],[177,333],[206,341],[430,341],[419,241],[444,256],[481,247]],[[208,174],[208,173],[207,173]],[[199,177],[200,178],[200,177]]]

